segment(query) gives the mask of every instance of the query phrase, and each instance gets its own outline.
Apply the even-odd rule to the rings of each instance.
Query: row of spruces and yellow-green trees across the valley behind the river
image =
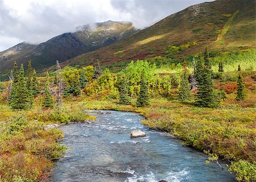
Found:
[[[218,71],[220,73],[224,72],[222,62],[219,63],[218,67]],[[155,86],[153,86],[152,81],[150,80],[150,78],[154,77],[152,70],[154,70],[154,65],[150,65],[147,61],[138,61],[136,64],[131,62],[124,71],[118,73],[120,83],[118,86],[118,98],[120,104],[131,104],[131,98],[137,95],[137,107],[144,107],[150,104],[150,90],[152,88],[156,90],[164,90],[166,92],[170,89],[168,85],[171,85],[171,81],[168,79],[167,81],[163,81],[160,78],[155,79]],[[105,82],[112,82],[113,78],[109,78],[112,77],[112,75],[108,70],[101,70],[100,61],[96,60],[96,66],[94,69],[93,67],[90,67],[90,71],[92,72],[92,75],[90,75],[91,78],[89,78],[87,72],[85,73],[85,69],[81,69],[81,71],[76,69],[72,71],[61,71],[59,63],[57,62],[57,75],[55,77],[55,83],[57,83],[57,105],[61,105],[62,98],[66,98],[71,95],[80,96],[81,91],[84,90],[88,84],[93,85],[93,82],[95,81],[98,81],[95,83],[98,84],[98,86],[101,85],[100,88],[102,89],[115,87],[114,83],[112,83],[112,86],[110,84],[108,86],[109,88],[102,86],[102,84],[106,84]],[[246,98],[245,84],[243,82],[240,65],[238,65],[238,71],[239,75],[237,80],[238,88],[236,99],[244,100]],[[106,76],[108,74],[109,76]],[[217,93],[217,91],[214,90],[212,75],[213,71],[209,62],[209,53],[206,46],[204,58],[197,60],[194,65],[193,74],[191,75],[191,83],[189,83],[187,62],[184,61],[179,78],[178,99],[180,101],[191,100],[191,88],[196,87],[196,99],[194,104],[197,107],[218,107],[223,94]],[[192,86],[191,84],[195,85]],[[43,94],[43,107],[51,108],[55,105],[55,101],[53,100],[53,92],[55,91],[51,89],[49,73],[46,73],[46,82],[44,84],[43,91],[41,91],[38,79],[36,78],[36,70],[32,69],[31,61],[28,62],[27,77],[24,77],[23,64],[20,65],[20,69],[18,70],[18,65],[16,64],[16,61],[14,62],[9,86],[9,105],[13,109],[32,108],[34,98],[40,92]]]

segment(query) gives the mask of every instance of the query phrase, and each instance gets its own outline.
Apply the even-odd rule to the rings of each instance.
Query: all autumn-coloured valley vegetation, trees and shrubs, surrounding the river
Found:
[[[255,181],[255,49],[206,48],[172,58],[182,49],[170,45],[167,57],[120,63],[119,70],[97,60],[95,67],[66,66],[46,77],[36,77],[31,62],[24,75],[23,65],[14,62],[10,81],[0,82],[0,181],[46,180],[66,149],[59,143],[61,131],[47,125],[93,120],[86,109],[139,112],[148,128],[205,151],[208,162],[228,160],[238,181]],[[63,90],[62,104],[57,90]]]

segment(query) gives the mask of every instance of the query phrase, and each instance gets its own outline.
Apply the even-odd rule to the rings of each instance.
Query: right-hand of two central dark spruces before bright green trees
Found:
[[[144,81],[144,78],[142,78],[140,85],[141,85],[141,87],[139,90],[139,95],[138,95],[137,103],[136,103],[137,107],[143,107],[143,106],[149,105],[149,100],[150,100],[150,97],[148,94],[147,83],[146,83],[146,81]]]

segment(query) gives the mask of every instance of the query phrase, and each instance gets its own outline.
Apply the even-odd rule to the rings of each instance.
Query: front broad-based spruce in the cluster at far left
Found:
[[[28,109],[31,107],[30,98],[24,80],[24,68],[23,64],[20,65],[18,83],[16,83],[16,91],[13,100],[11,101],[11,107],[13,109]]]

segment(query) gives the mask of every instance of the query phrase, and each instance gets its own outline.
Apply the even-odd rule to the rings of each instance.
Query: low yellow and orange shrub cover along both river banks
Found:
[[[16,128],[14,133],[9,129],[7,135],[5,132],[0,136],[2,181],[45,179],[52,172],[52,161],[63,155],[66,149],[59,143],[62,132],[53,128],[46,130],[45,125],[93,120],[95,117],[84,112],[85,109],[137,112],[147,118],[142,123],[148,128],[177,136],[183,139],[184,145],[209,150],[225,160],[239,162],[238,167],[247,165],[245,162],[253,165],[255,161],[255,108],[243,108],[237,104],[223,104],[218,109],[199,108],[192,103],[163,98],[151,99],[149,107],[139,108],[135,107],[135,99],[131,105],[120,105],[118,100],[80,98],[65,100],[61,109],[35,107],[29,111],[12,111],[7,105],[0,105],[0,120],[10,122]],[[24,120],[16,116],[24,116]],[[15,160],[17,158],[19,160]],[[254,171],[248,172],[244,175],[255,174]]]

